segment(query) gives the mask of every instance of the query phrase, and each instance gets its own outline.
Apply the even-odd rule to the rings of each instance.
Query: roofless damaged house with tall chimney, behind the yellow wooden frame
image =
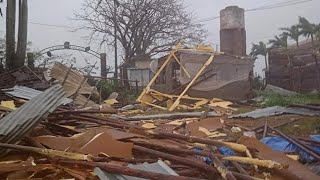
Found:
[[[216,97],[234,101],[248,99],[252,97],[254,60],[246,55],[244,10],[231,6],[220,13],[221,53],[215,51],[212,63],[203,69],[186,94],[191,97]],[[211,48],[200,46],[194,49],[179,48],[152,87],[168,94],[180,94],[203,68],[212,51]],[[161,69],[170,55],[151,63],[154,73]],[[150,77],[150,74],[141,76]],[[141,78],[131,80],[140,81]]]

